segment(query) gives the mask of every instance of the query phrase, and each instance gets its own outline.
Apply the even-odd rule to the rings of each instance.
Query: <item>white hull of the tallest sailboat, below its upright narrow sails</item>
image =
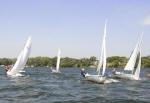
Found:
[[[99,76],[99,75],[87,75],[86,80],[91,81],[91,82],[96,82],[96,83],[101,83],[104,84],[105,82],[105,77]]]

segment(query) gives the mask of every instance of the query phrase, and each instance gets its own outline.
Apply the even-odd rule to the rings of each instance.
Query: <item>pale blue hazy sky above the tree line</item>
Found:
[[[99,57],[105,19],[107,56],[129,57],[142,32],[150,55],[150,0],[0,0],[0,58],[16,58],[29,35],[30,57]]]

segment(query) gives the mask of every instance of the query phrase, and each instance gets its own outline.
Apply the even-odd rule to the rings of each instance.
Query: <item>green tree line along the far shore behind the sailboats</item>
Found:
[[[15,64],[16,58],[0,58],[0,65],[12,65]],[[56,67],[57,57],[49,58],[49,57],[34,57],[29,58],[27,61],[27,66],[33,67]],[[124,68],[126,63],[128,62],[128,58],[120,57],[120,56],[112,56],[107,58],[107,67],[108,68]],[[97,67],[98,60],[96,57],[92,56],[90,58],[69,58],[64,57],[61,58],[61,67]],[[150,68],[150,56],[142,57],[142,67]]]

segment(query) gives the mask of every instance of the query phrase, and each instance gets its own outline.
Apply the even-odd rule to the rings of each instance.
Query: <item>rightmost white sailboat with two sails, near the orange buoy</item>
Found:
[[[140,37],[140,39],[138,40],[135,49],[132,52],[132,55],[128,61],[128,63],[126,64],[124,71],[130,72],[130,73],[120,73],[120,74],[116,74],[114,77],[116,78],[121,78],[121,79],[130,79],[130,80],[140,80],[140,69],[141,69],[141,41],[142,41],[142,36],[143,33]],[[137,58],[139,57],[138,60],[138,65],[137,68],[135,70],[135,65],[136,65],[136,61]]]

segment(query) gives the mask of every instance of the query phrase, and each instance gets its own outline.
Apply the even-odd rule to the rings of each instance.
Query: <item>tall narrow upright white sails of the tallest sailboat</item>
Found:
[[[100,60],[97,68],[98,75],[101,74],[102,76],[105,74],[105,70],[106,70],[106,26],[107,26],[107,21],[105,21],[101,55],[100,55]],[[102,65],[103,65],[103,71],[101,73]]]

